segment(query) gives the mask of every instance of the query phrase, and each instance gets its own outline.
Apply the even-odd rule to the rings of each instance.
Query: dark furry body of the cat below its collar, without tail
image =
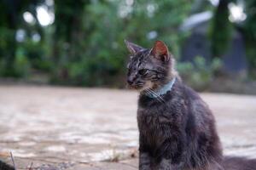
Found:
[[[139,98],[140,169],[223,169],[214,117],[200,96],[177,80],[163,99]]]

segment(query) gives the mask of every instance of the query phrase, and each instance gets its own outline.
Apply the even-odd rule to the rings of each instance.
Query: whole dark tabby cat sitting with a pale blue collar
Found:
[[[256,161],[223,157],[212,112],[178,77],[164,42],[151,49],[125,43],[131,52],[127,82],[140,91],[139,169],[256,169]]]

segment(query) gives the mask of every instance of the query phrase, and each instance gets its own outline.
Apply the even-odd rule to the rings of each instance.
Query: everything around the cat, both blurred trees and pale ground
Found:
[[[166,42],[183,81],[207,92],[224,154],[256,158],[256,95],[243,95],[256,94],[256,0],[0,0],[0,9],[0,169],[137,169],[137,92],[117,89],[124,39]]]

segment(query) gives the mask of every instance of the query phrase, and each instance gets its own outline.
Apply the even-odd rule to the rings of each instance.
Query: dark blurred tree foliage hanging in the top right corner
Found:
[[[229,20],[229,3],[242,3],[244,4],[244,12],[246,20],[242,22],[233,22]],[[245,38],[247,61],[249,66],[249,73],[254,78],[256,77],[256,0],[220,0],[218,8],[216,8],[212,26],[210,28],[210,40],[212,42],[213,57],[218,57],[224,54],[229,47],[230,37],[232,31],[238,28],[243,37]]]

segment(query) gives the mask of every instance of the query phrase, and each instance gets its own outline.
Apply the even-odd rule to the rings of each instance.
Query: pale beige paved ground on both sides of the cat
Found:
[[[256,96],[201,94],[225,155],[256,157]],[[137,93],[0,86],[0,160],[18,169],[137,169]]]

